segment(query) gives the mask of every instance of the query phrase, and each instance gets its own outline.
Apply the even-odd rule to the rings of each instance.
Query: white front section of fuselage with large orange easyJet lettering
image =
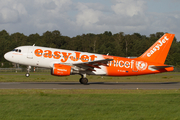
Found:
[[[13,63],[43,68],[53,68],[53,64],[55,63],[72,65],[73,67],[73,64],[103,59],[103,55],[100,54],[39,46],[17,47],[13,51],[6,53],[4,57]],[[100,67],[101,69],[92,71],[89,74],[106,75],[105,67]]]

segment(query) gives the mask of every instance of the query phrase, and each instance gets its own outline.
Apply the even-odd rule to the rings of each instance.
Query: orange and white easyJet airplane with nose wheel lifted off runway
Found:
[[[136,58],[109,56],[80,51],[40,46],[20,46],[7,52],[4,58],[10,62],[27,65],[26,77],[31,66],[51,69],[55,76],[81,75],[79,82],[87,84],[86,75],[137,76],[170,72],[171,65],[164,62],[175,34],[165,33],[146,52]]]

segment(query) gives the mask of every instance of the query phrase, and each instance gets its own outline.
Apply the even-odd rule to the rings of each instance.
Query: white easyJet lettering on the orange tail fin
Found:
[[[167,36],[164,37],[164,39],[160,39],[157,44],[155,45],[154,48],[152,48],[152,50],[150,50],[148,53],[147,53],[147,57],[151,57],[156,51],[160,50],[161,49],[161,46],[164,45],[164,43],[166,43],[166,41],[168,41],[169,38],[167,38]]]

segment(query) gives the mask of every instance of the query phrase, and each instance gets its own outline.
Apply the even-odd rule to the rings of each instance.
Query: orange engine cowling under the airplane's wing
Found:
[[[71,74],[71,66],[54,64],[54,67],[51,69],[51,74],[55,76],[69,76]]]

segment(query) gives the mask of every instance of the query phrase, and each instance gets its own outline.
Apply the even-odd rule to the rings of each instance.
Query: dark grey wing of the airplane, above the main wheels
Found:
[[[94,68],[99,68],[99,66],[108,66],[108,62],[112,61],[114,59],[103,59],[103,60],[96,60],[96,61],[91,61],[91,62],[83,62],[83,63],[75,63],[73,64],[76,67],[79,67],[84,70],[90,70],[90,71],[95,71]]]

